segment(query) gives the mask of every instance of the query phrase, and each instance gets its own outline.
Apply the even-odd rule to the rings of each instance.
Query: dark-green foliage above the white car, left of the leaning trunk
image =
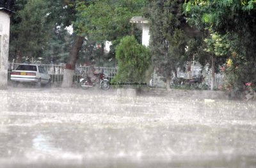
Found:
[[[43,63],[63,62],[71,36],[65,29],[76,19],[75,1],[15,0],[11,17],[9,59],[42,57]],[[34,59],[36,60],[36,59]]]

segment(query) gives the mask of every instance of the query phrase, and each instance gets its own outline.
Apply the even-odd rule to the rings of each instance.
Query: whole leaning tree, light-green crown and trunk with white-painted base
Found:
[[[63,87],[70,87],[74,68],[81,50],[84,38],[86,40],[102,43],[106,40],[120,41],[120,39],[131,32],[129,20],[140,13],[143,0],[131,1],[75,1],[68,2],[75,10],[73,27],[76,36],[74,44],[67,59],[64,73]],[[115,43],[115,42],[114,42]]]

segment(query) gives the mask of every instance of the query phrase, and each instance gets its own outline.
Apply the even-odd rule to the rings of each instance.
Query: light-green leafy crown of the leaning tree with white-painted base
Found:
[[[77,20],[74,25],[77,33],[85,34],[95,42],[120,40],[131,33],[129,20],[141,15],[141,6],[145,0],[113,1],[95,0],[90,5],[77,4]]]

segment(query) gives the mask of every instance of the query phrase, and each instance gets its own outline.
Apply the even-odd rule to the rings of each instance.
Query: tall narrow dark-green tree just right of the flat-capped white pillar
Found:
[[[151,0],[145,13],[145,17],[150,20],[150,48],[154,65],[166,77],[167,88],[170,88],[172,71],[184,60],[189,39],[182,4],[182,0]]]

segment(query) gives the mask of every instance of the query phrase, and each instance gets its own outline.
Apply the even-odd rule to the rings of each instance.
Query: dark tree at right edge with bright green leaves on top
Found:
[[[255,83],[255,1],[191,0],[184,7],[191,26],[211,30],[223,39],[218,41],[221,46],[228,46],[225,55],[230,57],[229,62],[232,63],[230,72],[236,75],[232,87],[241,87],[244,82]],[[217,52],[214,50],[214,53]]]

